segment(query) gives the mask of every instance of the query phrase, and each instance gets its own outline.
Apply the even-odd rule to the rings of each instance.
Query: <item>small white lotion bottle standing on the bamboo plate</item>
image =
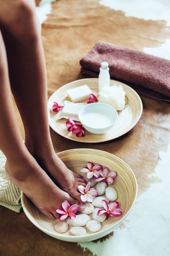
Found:
[[[104,86],[110,86],[110,74],[109,74],[109,64],[105,61],[101,63],[100,73],[99,73],[99,92]]]

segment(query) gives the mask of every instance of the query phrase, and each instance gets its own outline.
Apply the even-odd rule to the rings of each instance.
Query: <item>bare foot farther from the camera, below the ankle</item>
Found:
[[[27,148],[29,150],[28,146]],[[43,150],[41,151],[40,149],[38,153],[30,153],[36,159],[39,166],[41,166],[41,168],[51,177],[58,187],[63,189],[74,199],[82,202],[80,193],[78,192],[78,185],[86,187],[87,182],[82,176],[69,170],[54,151],[52,151],[52,153],[49,152],[51,151],[46,150],[46,152],[43,153]]]

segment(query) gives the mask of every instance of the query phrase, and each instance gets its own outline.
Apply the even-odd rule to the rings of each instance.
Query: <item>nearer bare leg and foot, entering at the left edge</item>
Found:
[[[5,172],[11,182],[49,218],[58,217],[56,209],[62,200],[70,204],[77,203],[66,192],[59,189],[41,169],[23,143],[8,77],[8,64],[5,45],[0,31],[0,148],[7,157]]]

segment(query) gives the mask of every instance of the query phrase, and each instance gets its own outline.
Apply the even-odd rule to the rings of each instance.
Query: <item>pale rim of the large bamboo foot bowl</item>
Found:
[[[99,149],[69,149],[69,150],[65,150],[65,151],[59,152],[59,153],[57,153],[57,155],[60,156],[60,155],[62,155],[62,154],[66,154],[67,152],[74,152],[74,151],[77,151],[77,150],[80,151],[80,152],[81,152],[81,151],[85,151],[85,152],[86,152],[86,151],[89,151],[89,152],[96,152],[96,153],[104,153],[104,154],[106,154],[106,155],[108,155],[108,156],[112,156],[112,157],[114,157],[115,159],[117,159],[118,161],[120,161],[121,163],[123,163],[124,165],[126,165],[126,166],[128,167],[128,169],[130,170],[130,172],[131,172],[133,178],[134,178],[134,183],[135,183],[135,195],[134,195],[133,203],[132,203],[131,207],[128,209],[128,212],[127,212],[118,222],[116,222],[115,224],[111,225],[112,229],[114,230],[114,227],[115,227],[115,226],[118,227],[118,226],[124,221],[124,219],[125,219],[125,218],[128,216],[128,214],[131,212],[131,209],[133,208],[133,206],[134,206],[134,204],[135,204],[135,201],[136,201],[136,198],[137,198],[137,180],[136,180],[136,177],[135,177],[135,175],[134,175],[134,172],[133,172],[132,169],[128,166],[128,164],[125,163],[125,162],[124,162],[122,159],[120,159],[118,156],[115,156],[115,155],[113,155],[113,154],[111,154],[111,153],[109,153],[109,152],[105,152],[105,151],[99,150]],[[46,234],[48,234],[48,235],[50,235],[50,236],[52,236],[52,237],[55,237],[55,238],[57,238],[57,239],[59,239],[59,240],[63,240],[63,241],[69,241],[69,238],[72,237],[72,238],[73,238],[72,240],[74,240],[74,242],[77,242],[76,240],[81,239],[81,238],[87,238],[88,236],[90,237],[90,240],[88,240],[88,241],[93,241],[93,240],[96,239],[96,238],[95,238],[96,234],[98,234],[100,238],[103,237],[103,236],[105,236],[105,235],[101,235],[101,234],[103,233],[103,230],[99,230],[99,231],[94,232],[94,233],[92,233],[92,234],[81,235],[81,236],[63,235],[62,233],[57,233],[57,232],[56,232],[56,234],[55,234],[55,236],[54,236],[54,233],[53,233],[52,231],[49,231],[48,229],[43,228],[41,225],[39,225],[38,222],[36,222],[36,220],[35,220],[35,218],[33,217],[33,215],[31,215],[31,214],[27,211],[27,207],[26,207],[25,204],[24,204],[24,200],[29,200],[29,199],[27,199],[27,197],[26,197],[26,196],[24,195],[24,193],[21,191],[21,203],[22,203],[22,207],[23,207],[23,210],[24,210],[24,212],[25,212],[27,218],[28,218],[37,228],[39,228],[41,231],[43,231],[44,233],[46,233]],[[34,206],[34,207],[35,207],[35,206]],[[110,227],[106,228],[104,231],[107,232],[109,229],[110,229]],[[112,231],[113,231],[113,230],[112,230]],[[110,232],[112,232],[112,231],[110,231]],[[110,233],[110,232],[109,232],[109,233]],[[108,234],[109,234],[109,233],[108,233]],[[63,239],[62,239],[62,238],[63,238]],[[78,238],[78,239],[76,239],[76,238]],[[65,240],[65,239],[66,239],[66,240]],[[71,242],[73,242],[73,241],[71,241]]]

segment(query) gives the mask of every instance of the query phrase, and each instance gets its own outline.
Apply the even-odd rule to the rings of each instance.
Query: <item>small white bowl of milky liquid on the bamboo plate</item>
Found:
[[[87,114],[89,120],[87,119]],[[89,114],[93,114],[93,119]],[[90,103],[84,106],[79,112],[79,120],[83,127],[90,133],[102,134],[118,120],[118,112],[112,106],[105,103]],[[86,117],[86,119],[85,119]],[[108,121],[108,123],[105,121]]]

